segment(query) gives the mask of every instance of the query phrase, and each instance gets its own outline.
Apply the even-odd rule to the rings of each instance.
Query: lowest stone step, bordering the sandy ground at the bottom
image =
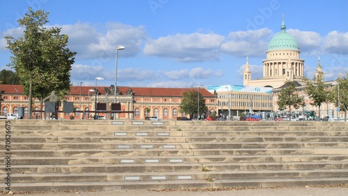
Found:
[[[13,183],[12,192],[45,192],[61,191],[113,191],[113,190],[181,190],[181,189],[214,189],[214,188],[267,188],[274,186],[320,186],[348,183],[347,177],[332,178],[296,178],[296,179],[220,179],[176,181],[93,181],[93,182],[44,182],[44,183]],[[1,183],[2,190],[6,184]]]

